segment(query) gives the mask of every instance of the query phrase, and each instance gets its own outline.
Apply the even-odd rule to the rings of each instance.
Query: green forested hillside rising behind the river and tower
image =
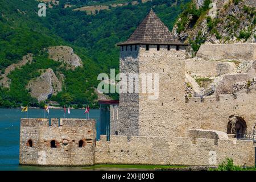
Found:
[[[116,44],[131,35],[151,8],[171,30],[187,2],[189,0],[143,3],[53,0],[47,3],[46,17],[39,17],[39,1],[0,0],[0,81],[5,75],[10,80],[9,86],[0,86],[0,107],[43,106],[44,102],[49,101],[56,101],[60,105],[82,107],[90,104],[97,107],[98,96],[94,88],[97,88],[98,73],[109,73],[110,68],[118,72],[119,69],[119,49]],[[99,5],[108,9],[98,10]],[[82,11],[84,6],[97,10],[88,13]],[[73,48],[83,66],[67,69],[64,63],[54,61],[48,55],[48,47],[52,46]],[[16,67],[28,54],[32,55],[31,61],[5,73],[10,65]],[[31,96],[27,85],[48,68],[63,82],[62,88],[39,103]]]

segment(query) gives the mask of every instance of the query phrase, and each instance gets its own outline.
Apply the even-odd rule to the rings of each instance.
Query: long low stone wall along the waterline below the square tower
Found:
[[[163,164],[216,166],[226,158],[234,164],[254,166],[254,145],[246,140],[218,140],[189,137],[131,137],[101,135],[96,144],[97,164]],[[216,159],[216,160],[215,160]]]

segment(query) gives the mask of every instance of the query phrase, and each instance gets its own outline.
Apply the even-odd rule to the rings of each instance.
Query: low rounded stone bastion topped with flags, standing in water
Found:
[[[21,119],[20,164],[86,166],[94,164],[96,126],[92,119]],[[28,140],[32,140],[32,147]],[[56,148],[51,147],[55,140]],[[83,141],[79,147],[80,140]]]

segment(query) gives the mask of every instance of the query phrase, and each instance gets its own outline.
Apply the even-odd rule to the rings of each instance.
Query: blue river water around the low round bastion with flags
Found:
[[[19,166],[20,118],[26,118],[20,109],[0,109],[0,170],[77,170],[81,167],[29,167]],[[86,118],[84,110],[71,109],[67,118]],[[44,109],[28,109],[28,118],[44,118]],[[49,118],[64,118],[63,109],[50,109]],[[90,110],[90,118],[100,127],[100,110]],[[99,138],[100,133],[97,133]]]

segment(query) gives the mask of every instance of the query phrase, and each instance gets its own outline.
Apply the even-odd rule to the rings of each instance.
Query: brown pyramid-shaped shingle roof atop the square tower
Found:
[[[150,10],[150,13],[147,14],[128,40],[117,45],[130,44],[185,45],[168,30],[153,10]]]

